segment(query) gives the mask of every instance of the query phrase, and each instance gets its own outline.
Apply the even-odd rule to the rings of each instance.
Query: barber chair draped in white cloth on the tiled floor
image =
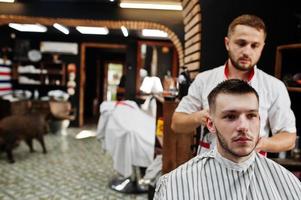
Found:
[[[143,112],[134,101],[103,102],[97,138],[113,158],[113,168],[120,174],[109,182],[115,191],[146,193],[139,184],[143,169],[154,156],[155,118]]]

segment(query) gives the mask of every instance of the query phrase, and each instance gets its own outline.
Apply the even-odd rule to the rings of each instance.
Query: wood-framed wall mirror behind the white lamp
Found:
[[[138,41],[137,50],[137,93],[139,93],[142,79],[146,75],[157,76],[162,83],[165,76],[177,76],[178,54],[172,42]]]

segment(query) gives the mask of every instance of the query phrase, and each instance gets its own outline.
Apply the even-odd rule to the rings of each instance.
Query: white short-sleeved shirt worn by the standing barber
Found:
[[[208,109],[207,96],[220,82],[226,80],[225,65],[202,72],[197,75],[188,95],[183,97],[176,112],[193,113]],[[291,109],[291,101],[287,89],[282,81],[254,67],[254,75],[249,84],[259,95],[260,136],[268,137],[279,131],[296,132],[296,119]],[[215,145],[215,136],[206,134],[201,139],[206,143]]]

